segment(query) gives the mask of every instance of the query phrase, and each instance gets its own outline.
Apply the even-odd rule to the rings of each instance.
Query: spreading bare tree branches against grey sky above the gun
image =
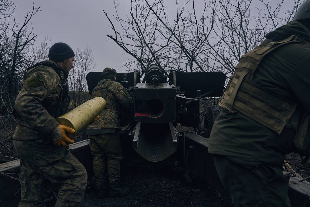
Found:
[[[115,5],[114,35],[107,35],[133,59],[124,66],[139,70],[142,75],[152,63],[166,71],[223,71],[230,77],[240,57],[262,42],[276,27],[292,20],[301,0],[294,0],[292,9],[283,11],[283,3],[270,0],[204,1],[196,12],[195,0],[179,7],[169,19],[163,0],[131,0],[127,18],[122,18]],[[185,12],[191,7],[191,11]],[[201,10],[201,8],[200,8]]]

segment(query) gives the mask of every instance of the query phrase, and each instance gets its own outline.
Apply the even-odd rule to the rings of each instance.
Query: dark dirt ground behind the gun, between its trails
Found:
[[[137,165],[122,169],[122,182],[130,193],[119,198],[97,199],[95,192],[86,193],[82,207],[103,206],[210,206],[232,207],[226,195],[193,178],[190,186],[184,170],[174,163],[161,166]]]

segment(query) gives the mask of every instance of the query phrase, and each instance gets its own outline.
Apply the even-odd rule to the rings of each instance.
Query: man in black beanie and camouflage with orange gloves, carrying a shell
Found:
[[[66,149],[73,143],[66,132],[72,128],[55,118],[69,106],[68,73],[73,50],[55,43],[49,60],[27,69],[15,100],[18,123],[14,146],[20,157],[21,200],[19,207],[45,206],[53,183],[60,185],[56,207],[80,206],[87,184],[83,165]]]

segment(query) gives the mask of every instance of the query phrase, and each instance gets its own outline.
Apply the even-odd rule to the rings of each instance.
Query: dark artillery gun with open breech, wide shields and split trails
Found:
[[[101,73],[88,73],[86,79],[91,93],[101,80]],[[194,128],[200,125],[199,100],[221,96],[225,75],[221,72],[183,73],[174,70],[166,74],[158,65],[151,65],[143,83],[140,83],[139,72],[119,73],[116,81],[127,88],[134,100],[133,108],[122,117],[123,125],[130,125],[129,132],[120,133],[121,141],[126,142],[123,145],[123,160],[131,151],[156,163],[174,156],[186,171],[225,193],[213,158],[208,154],[208,139],[176,130],[178,123]],[[93,168],[88,140],[69,145],[69,151],[91,177]],[[16,178],[19,170],[20,160],[0,164],[0,189],[6,189],[0,194],[0,206],[14,207],[18,204],[20,182]],[[291,205],[310,206],[310,183],[300,182],[300,178],[290,178],[290,174],[287,178]]]

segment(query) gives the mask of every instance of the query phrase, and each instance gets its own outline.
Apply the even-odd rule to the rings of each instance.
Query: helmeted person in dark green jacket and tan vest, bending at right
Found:
[[[291,206],[282,164],[292,151],[309,155],[309,64],[306,0],[293,21],[268,33],[236,66],[208,148],[236,207]]]

